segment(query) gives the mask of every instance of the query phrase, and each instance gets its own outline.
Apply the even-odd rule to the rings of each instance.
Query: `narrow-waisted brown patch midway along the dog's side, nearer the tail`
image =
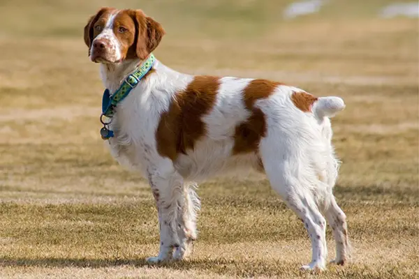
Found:
[[[251,112],[249,118],[235,128],[233,155],[258,151],[261,137],[266,135],[265,114],[254,107],[256,100],[269,97],[280,85],[269,80],[252,80],[243,91],[244,105]]]

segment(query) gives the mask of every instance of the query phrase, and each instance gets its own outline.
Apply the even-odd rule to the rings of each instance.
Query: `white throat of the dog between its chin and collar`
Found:
[[[110,93],[117,91],[122,81],[140,65],[140,59],[124,60],[120,63],[101,63],[101,79],[103,86]]]

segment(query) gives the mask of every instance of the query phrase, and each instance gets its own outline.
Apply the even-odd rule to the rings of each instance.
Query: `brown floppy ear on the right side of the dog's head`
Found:
[[[145,59],[159,45],[166,33],[159,22],[147,17],[142,10],[133,11],[135,23],[135,54]]]

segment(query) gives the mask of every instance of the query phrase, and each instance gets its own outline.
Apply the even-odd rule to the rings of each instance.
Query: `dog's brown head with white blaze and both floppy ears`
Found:
[[[84,27],[84,43],[96,63],[145,59],[159,45],[165,31],[142,10],[101,8]]]

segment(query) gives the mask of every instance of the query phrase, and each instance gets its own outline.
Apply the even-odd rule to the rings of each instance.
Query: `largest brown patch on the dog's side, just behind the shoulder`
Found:
[[[161,156],[176,160],[179,153],[193,149],[195,142],[205,135],[202,117],[213,107],[218,89],[219,77],[196,76],[177,94],[168,112],[161,114],[156,130],[157,151]]]

